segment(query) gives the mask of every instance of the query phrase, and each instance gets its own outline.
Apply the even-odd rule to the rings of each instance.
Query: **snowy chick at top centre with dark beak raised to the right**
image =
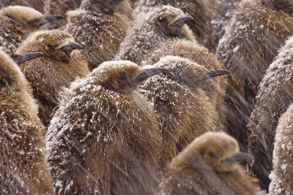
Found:
[[[133,29],[120,45],[115,60],[130,60],[140,63],[147,52],[172,38],[186,38],[195,41],[188,26],[193,18],[172,6],[160,6],[149,13],[144,20],[138,18]]]

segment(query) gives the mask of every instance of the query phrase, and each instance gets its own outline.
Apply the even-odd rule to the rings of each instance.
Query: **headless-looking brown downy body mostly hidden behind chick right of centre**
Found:
[[[172,40],[157,47],[147,54],[141,65],[154,64],[163,56],[181,56],[190,59],[208,70],[223,69],[222,64],[211,54],[206,47],[189,40]],[[200,86],[208,95],[212,104],[216,105],[219,121],[218,130],[226,130],[224,95],[227,88],[227,77],[215,77]]]

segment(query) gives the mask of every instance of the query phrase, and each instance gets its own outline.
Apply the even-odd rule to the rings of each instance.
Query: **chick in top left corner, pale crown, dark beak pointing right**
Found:
[[[62,19],[60,15],[44,16],[33,8],[8,6],[0,10],[0,49],[10,56],[29,33],[40,29],[47,22]]]

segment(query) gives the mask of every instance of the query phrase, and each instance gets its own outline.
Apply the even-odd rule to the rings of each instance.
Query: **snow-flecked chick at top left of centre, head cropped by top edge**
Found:
[[[83,0],[79,10],[68,12],[65,31],[73,35],[84,49],[82,54],[90,70],[103,61],[111,61],[119,49],[130,24],[117,13],[121,1]]]

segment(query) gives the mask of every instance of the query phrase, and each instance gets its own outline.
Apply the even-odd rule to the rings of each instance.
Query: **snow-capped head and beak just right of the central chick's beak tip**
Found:
[[[165,56],[156,64],[156,68],[166,68],[166,76],[170,79],[197,88],[204,81],[220,75],[230,74],[229,70],[208,70],[202,65],[179,56]]]

